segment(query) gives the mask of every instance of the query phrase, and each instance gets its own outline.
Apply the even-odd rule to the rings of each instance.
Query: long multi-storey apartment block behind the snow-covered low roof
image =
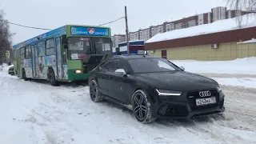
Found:
[[[242,10],[226,10],[226,7],[218,6],[204,14],[196,14],[188,18],[182,18],[174,22],[163,22],[158,26],[150,26],[144,30],[130,32],[130,40],[148,40],[156,34],[165,33],[166,31],[185,29],[191,26],[198,26],[207,23],[216,22],[226,18],[234,18],[244,14],[249,14],[250,11]]]

